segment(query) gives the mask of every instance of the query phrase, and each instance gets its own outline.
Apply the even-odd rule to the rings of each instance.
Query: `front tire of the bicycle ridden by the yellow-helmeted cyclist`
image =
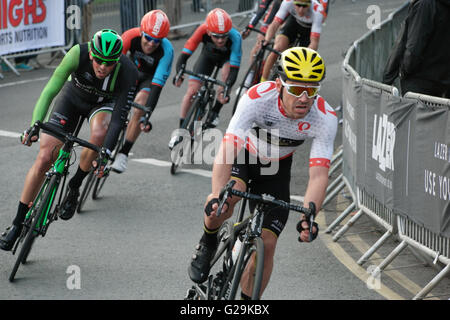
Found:
[[[239,257],[236,262],[235,274],[231,282],[231,292],[228,297],[230,300],[234,300],[236,297],[236,292],[240,285],[242,274],[245,268],[247,267],[248,262],[252,258],[253,253],[256,254],[255,256],[256,266],[255,272],[252,272],[252,274],[254,274],[255,276],[251,284],[252,287],[251,299],[252,300],[260,299],[260,291],[262,286],[262,277],[264,270],[264,243],[260,237],[256,237],[255,239],[253,239],[252,243],[249,244],[244,243],[242,245],[241,252],[239,253]]]

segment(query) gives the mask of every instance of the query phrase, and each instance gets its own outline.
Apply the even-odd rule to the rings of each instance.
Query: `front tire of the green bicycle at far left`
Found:
[[[19,269],[20,264],[25,264],[28,258],[28,255],[31,252],[31,247],[33,246],[33,243],[38,236],[36,229],[36,226],[40,219],[43,219],[43,213],[44,210],[49,208],[51,209],[51,206],[53,203],[49,203],[53,190],[58,188],[58,181],[57,176],[54,175],[50,178],[49,183],[45,186],[46,188],[45,192],[43,193],[41,199],[39,199],[39,205],[35,207],[34,210],[36,210],[36,214],[31,215],[31,226],[27,230],[25,235],[25,240],[22,244],[22,247],[20,248],[19,255],[17,256],[16,262],[14,263],[13,270],[11,271],[9,275],[9,281],[13,282],[14,278],[16,276],[17,270]],[[41,223],[45,223],[45,221],[42,221]]]

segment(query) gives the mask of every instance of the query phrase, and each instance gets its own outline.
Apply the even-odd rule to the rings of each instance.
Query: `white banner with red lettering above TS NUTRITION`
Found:
[[[0,0],[0,56],[64,44],[63,0]]]

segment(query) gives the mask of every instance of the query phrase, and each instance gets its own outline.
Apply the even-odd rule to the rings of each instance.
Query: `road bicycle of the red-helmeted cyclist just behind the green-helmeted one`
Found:
[[[134,107],[134,108],[144,111],[145,115],[141,117],[139,122],[142,123],[144,126],[150,125],[150,127],[151,127],[151,123],[150,123],[149,119],[150,119],[150,116],[151,116],[153,110],[150,110],[150,108],[142,106],[136,102],[128,102],[128,105],[130,107]],[[111,153],[111,157],[109,158],[108,163],[105,167],[103,176],[102,177],[96,176],[94,174],[95,170],[94,170],[94,168],[92,168],[90,170],[88,176],[86,177],[86,182],[84,183],[83,190],[81,191],[81,194],[80,194],[80,199],[78,200],[78,205],[77,205],[78,213],[82,213],[84,204],[86,203],[86,200],[87,200],[91,190],[92,190],[92,200],[97,200],[99,198],[100,191],[103,189],[103,186],[105,185],[106,180],[108,179],[111,171],[114,171],[113,169],[111,169],[111,165],[114,163],[117,153],[122,149],[122,146],[125,143],[125,136],[126,136],[126,131],[127,131],[127,127],[128,127],[128,122],[129,122],[129,119],[127,119],[127,121],[125,121],[122,126],[122,130],[120,131],[116,147],[114,148],[113,152]]]

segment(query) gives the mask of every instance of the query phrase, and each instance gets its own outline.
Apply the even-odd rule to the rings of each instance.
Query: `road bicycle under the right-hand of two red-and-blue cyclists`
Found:
[[[181,134],[179,134],[180,131],[178,131],[178,133],[176,133],[176,135],[172,137],[172,139],[174,140],[171,140],[171,142],[174,141],[174,143],[171,146],[171,174],[175,174],[177,169],[181,166],[183,162],[183,156],[189,156],[184,155],[186,150],[190,152],[192,160],[195,152],[194,142],[196,135],[198,133],[203,134],[206,129],[212,127],[207,120],[209,118],[209,113],[211,112],[215,104],[216,90],[214,89],[214,86],[219,85],[224,87],[224,96],[228,96],[228,86],[224,82],[216,79],[219,69],[220,67],[216,65],[214,67],[212,76],[207,76],[182,68],[173,79],[173,82],[176,83],[178,79],[180,79],[180,77],[184,73],[186,73],[200,79],[200,81],[202,81],[202,86],[200,87],[200,90],[193,96],[191,108],[189,109],[189,112],[187,113],[186,118],[184,119],[180,128],[182,131]]]

